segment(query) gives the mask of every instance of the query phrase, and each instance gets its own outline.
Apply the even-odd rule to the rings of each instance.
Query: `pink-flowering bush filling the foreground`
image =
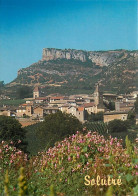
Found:
[[[91,185],[85,180],[86,176],[91,179],[97,176],[120,178],[122,183],[114,186],[112,195],[137,194],[137,148],[128,138],[126,148],[123,148],[122,140],[117,138],[105,140],[96,132],[85,135],[77,132],[30,160],[20,151],[8,153],[9,147],[1,146],[1,153],[7,153],[1,157],[5,169],[13,165],[13,172],[24,165],[31,195],[48,195],[51,185],[58,195],[104,195],[109,191],[108,185]],[[14,154],[13,159],[11,154]]]

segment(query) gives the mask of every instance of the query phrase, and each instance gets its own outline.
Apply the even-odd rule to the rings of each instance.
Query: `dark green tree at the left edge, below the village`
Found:
[[[0,142],[12,141],[13,144],[22,150],[26,150],[26,131],[21,127],[18,120],[9,116],[0,116]]]

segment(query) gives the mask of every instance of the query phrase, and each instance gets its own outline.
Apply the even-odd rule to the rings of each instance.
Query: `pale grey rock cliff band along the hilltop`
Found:
[[[83,51],[74,49],[55,49],[55,48],[44,48],[42,61],[56,60],[56,59],[76,59],[82,62],[87,60],[92,61],[98,66],[108,66],[115,62],[117,58],[126,58],[125,50],[115,51]]]

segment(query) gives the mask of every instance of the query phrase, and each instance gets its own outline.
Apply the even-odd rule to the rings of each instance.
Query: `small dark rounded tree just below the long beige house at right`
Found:
[[[109,132],[125,132],[127,131],[127,123],[125,121],[115,119],[108,123]]]

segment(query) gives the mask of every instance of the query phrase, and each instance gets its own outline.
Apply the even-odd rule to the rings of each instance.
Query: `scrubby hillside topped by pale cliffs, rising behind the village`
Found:
[[[42,59],[18,71],[8,84],[41,85],[48,93],[92,93],[96,82],[104,91],[137,89],[138,51],[83,51],[43,49]]]

